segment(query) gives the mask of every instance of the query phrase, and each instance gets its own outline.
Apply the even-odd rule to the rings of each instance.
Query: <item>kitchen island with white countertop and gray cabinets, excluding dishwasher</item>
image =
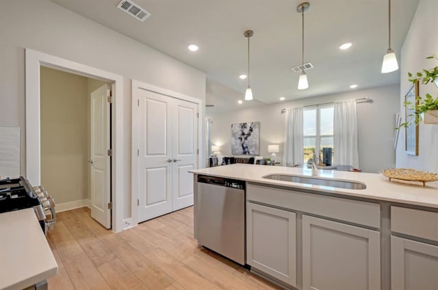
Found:
[[[193,170],[246,182],[246,264],[292,289],[438,289],[438,184],[381,174],[233,164]],[[266,179],[352,181],[349,189]],[[347,182],[347,183],[348,183]]]

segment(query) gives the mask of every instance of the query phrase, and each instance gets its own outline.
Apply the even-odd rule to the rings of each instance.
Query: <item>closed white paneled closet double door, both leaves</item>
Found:
[[[139,90],[138,221],[193,205],[198,105]]]

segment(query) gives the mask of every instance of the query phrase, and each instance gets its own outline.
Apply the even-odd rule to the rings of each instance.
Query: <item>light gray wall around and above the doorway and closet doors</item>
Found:
[[[25,174],[25,48],[124,77],[123,219],[131,216],[131,79],[205,101],[205,73],[49,0],[1,1],[0,125],[21,127]]]

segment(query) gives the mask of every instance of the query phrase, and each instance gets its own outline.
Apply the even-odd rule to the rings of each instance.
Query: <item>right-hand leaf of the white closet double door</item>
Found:
[[[198,163],[198,105],[173,100],[173,194],[172,211],[193,205],[193,176]]]

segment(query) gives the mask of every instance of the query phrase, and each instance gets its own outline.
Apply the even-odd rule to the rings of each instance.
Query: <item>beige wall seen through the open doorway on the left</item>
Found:
[[[42,68],[41,184],[58,204],[88,194],[88,81]]]

